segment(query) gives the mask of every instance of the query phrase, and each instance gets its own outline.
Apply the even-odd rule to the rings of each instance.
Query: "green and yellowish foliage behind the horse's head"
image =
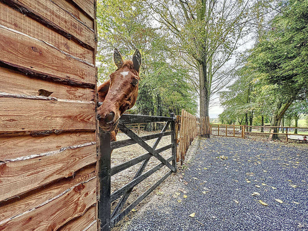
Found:
[[[192,114],[197,112],[188,69],[170,52],[172,39],[160,26],[152,26],[144,6],[129,0],[99,1],[97,18],[100,82],[116,69],[114,48],[121,51],[124,59],[131,59],[136,48],[142,54],[138,98],[132,113],[169,116],[170,112],[179,114],[182,108]]]

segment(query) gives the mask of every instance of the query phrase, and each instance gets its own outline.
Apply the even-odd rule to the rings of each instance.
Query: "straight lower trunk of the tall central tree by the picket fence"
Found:
[[[199,91],[200,91],[200,116],[209,116],[209,83],[207,80],[207,71],[206,71],[206,63],[200,62],[199,63]],[[209,127],[209,120],[206,124]],[[208,129],[209,130],[209,129]],[[204,135],[205,137],[209,138],[210,134],[209,131]]]

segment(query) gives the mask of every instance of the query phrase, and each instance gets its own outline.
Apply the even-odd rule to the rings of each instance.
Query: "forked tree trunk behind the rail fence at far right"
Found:
[[[272,123],[271,126],[278,127],[281,123],[282,117],[285,114],[286,110],[290,107],[292,101],[289,101],[287,103],[281,103],[279,100],[277,100],[274,104],[274,113],[272,116]],[[273,133],[278,133],[278,128],[271,129]],[[278,140],[279,136],[278,134],[272,134],[270,135],[270,139],[272,140]]]

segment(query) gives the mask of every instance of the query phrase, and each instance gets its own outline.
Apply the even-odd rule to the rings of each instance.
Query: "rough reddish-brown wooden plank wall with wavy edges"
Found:
[[[0,12],[0,230],[98,230],[96,1]]]

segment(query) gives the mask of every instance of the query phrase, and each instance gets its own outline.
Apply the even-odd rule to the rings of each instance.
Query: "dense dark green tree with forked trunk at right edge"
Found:
[[[273,18],[270,29],[261,36],[251,55],[256,70],[262,74],[266,86],[263,91],[270,91],[274,99],[271,126],[280,125],[294,100],[307,97],[307,0],[280,4],[281,12]]]

